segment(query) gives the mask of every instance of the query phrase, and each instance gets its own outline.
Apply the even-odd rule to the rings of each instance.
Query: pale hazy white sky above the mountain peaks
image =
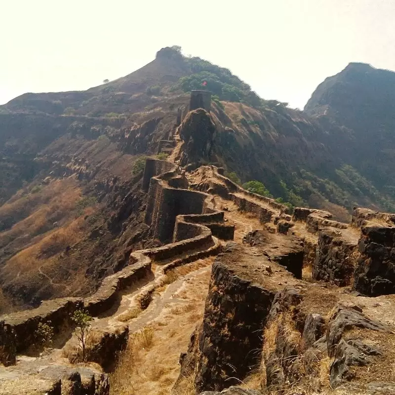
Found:
[[[0,104],[99,85],[171,45],[300,108],[349,62],[395,70],[394,0],[0,0],[0,10]]]

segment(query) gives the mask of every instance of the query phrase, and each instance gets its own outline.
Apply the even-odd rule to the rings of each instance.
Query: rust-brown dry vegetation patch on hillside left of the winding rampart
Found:
[[[95,211],[91,207],[95,204],[95,199],[81,197],[77,180],[68,178],[52,181],[40,193],[19,196],[1,206],[0,225],[6,216],[18,219],[27,214],[10,230],[0,233],[0,248],[6,246],[11,253],[16,252],[1,270],[4,283],[56,287],[56,293],[62,295],[64,289],[72,294],[83,288],[86,268],[79,271],[62,267],[59,259],[68,254],[68,246],[85,236],[89,224],[84,216]]]

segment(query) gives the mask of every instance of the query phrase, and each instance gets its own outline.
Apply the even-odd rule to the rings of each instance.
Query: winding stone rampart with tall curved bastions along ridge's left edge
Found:
[[[210,211],[208,205],[204,204],[206,194],[169,186],[169,181],[177,177],[178,182],[184,182],[176,166],[158,159],[147,159],[147,164],[144,177],[153,174],[149,187],[152,193],[150,197],[153,197],[149,205],[154,206],[151,215],[153,226],[159,235],[166,235],[166,238],[169,235],[170,241],[174,242],[132,252],[128,266],[106,277],[98,290],[89,297],[49,300],[37,309],[1,316],[0,349],[7,350],[7,357],[3,358],[4,361],[1,360],[2,363],[14,363],[15,353],[35,344],[35,332],[40,322],[51,321],[55,333],[58,333],[64,326],[71,324],[71,315],[79,308],[85,308],[92,316],[98,316],[111,309],[122,290],[150,274],[152,261],[173,259],[174,261],[168,264],[170,270],[171,267],[218,253],[221,244],[212,237],[209,226],[216,224],[220,228],[223,225],[224,228],[230,228],[227,234],[233,235],[233,227],[221,224],[223,212],[211,210],[211,213],[203,214],[204,210]],[[160,171],[164,173],[157,175]],[[153,192],[153,189],[156,189],[158,194]],[[168,211],[162,213],[162,210],[166,209]],[[178,215],[179,212],[188,215]]]

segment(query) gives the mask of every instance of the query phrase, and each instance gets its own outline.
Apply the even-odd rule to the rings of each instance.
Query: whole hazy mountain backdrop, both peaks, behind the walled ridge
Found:
[[[394,210],[394,76],[350,64],[301,112],[166,47],[106,84],[0,106],[0,311],[5,297],[26,306],[88,294],[130,251],[157,245],[143,221],[141,165],[188,128],[187,168],[223,166],[341,220],[355,205]],[[210,114],[188,113],[192,89],[213,93]]]

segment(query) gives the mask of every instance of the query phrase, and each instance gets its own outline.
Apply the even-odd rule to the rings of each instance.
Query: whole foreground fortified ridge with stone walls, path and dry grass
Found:
[[[291,216],[223,171],[147,159],[144,222],[170,243],[132,252],[91,296],[1,316],[0,393],[390,394],[394,215]],[[94,317],[83,363],[81,306]],[[45,352],[40,322],[55,331]]]

